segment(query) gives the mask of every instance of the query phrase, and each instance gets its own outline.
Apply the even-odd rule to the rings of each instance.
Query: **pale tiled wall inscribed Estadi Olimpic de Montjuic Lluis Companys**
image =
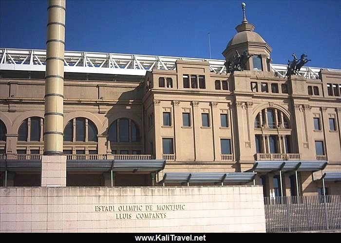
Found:
[[[263,190],[1,187],[0,232],[265,232]]]

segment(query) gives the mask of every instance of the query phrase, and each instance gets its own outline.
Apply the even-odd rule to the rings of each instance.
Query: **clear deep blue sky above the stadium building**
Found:
[[[224,59],[242,1],[67,0],[66,50]],[[249,1],[246,18],[272,47],[273,63],[308,55],[341,69],[341,1]],[[46,48],[47,1],[0,0],[0,47]]]

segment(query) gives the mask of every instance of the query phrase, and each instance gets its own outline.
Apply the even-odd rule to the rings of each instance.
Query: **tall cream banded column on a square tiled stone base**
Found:
[[[50,0],[47,8],[44,156],[41,186],[66,186],[63,154],[65,0]]]

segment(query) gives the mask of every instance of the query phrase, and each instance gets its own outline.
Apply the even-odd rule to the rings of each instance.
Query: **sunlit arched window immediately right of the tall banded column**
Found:
[[[66,124],[64,128],[64,141],[97,142],[97,133],[97,128],[91,120],[84,117],[76,117]]]

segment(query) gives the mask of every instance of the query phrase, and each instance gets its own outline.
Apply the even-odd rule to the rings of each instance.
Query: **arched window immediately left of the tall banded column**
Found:
[[[42,141],[43,118],[34,116],[25,119],[18,130],[18,141]]]

